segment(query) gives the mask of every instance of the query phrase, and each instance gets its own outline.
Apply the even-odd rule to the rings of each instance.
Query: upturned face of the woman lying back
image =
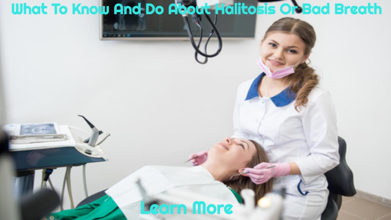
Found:
[[[246,165],[256,153],[253,142],[247,139],[231,139],[227,137],[209,149],[208,159],[226,166],[231,171],[246,168]]]

